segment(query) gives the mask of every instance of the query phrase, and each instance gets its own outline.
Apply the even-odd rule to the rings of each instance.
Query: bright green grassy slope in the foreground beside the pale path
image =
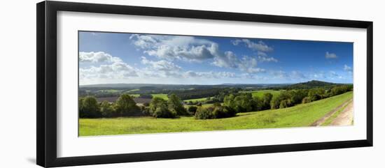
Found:
[[[350,100],[353,92],[285,109],[247,112],[227,119],[155,119],[150,116],[116,119],[80,119],[80,136],[125,135],[155,132],[290,128],[311,125],[317,119]]]

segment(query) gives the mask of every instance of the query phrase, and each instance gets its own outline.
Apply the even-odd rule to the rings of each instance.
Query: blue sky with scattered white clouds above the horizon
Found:
[[[79,83],[353,82],[353,43],[79,32]]]

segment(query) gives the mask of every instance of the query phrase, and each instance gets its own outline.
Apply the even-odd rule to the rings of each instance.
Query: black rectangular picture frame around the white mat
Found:
[[[111,13],[123,15],[145,15],[160,17],[197,18],[208,20],[230,20],[265,22],[276,24],[300,24],[315,26],[336,26],[367,30],[367,135],[366,139],[339,142],[304,144],[281,144],[268,146],[239,146],[233,148],[207,148],[185,151],[164,151],[148,153],[123,153],[116,155],[91,155],[57,158],[57,12],[73,11],[85,13]],[[373,22],[353,20],[332,20],[310,17],[279,15],[257,15],[227,13],[204,10],[183,10],[173,8],[151,8],[120,6],[95,3],[73,3],[63,1],[42,1],[36,4],[37,13],[37,84],[36,84],[36,162],[42,167],[94,165],[118,162],[140,162],[149,160],[171,160],[203,158],[225,155],[246,155],[257,153],[278,153],[309,151],[331,148],[351,148],[373,145]],[[97,153],[96,153],[97,154]]]

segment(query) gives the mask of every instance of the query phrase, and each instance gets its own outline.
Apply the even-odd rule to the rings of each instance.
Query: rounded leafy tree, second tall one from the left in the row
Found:
[[[116,112],[121,116],[139,116],[141,110],[129,94],[120,95],[116,100]]]

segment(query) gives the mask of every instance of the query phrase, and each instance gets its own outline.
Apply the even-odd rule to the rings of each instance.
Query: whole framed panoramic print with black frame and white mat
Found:
[[[43,167],[372,146],[372,22],[43,1]]]

